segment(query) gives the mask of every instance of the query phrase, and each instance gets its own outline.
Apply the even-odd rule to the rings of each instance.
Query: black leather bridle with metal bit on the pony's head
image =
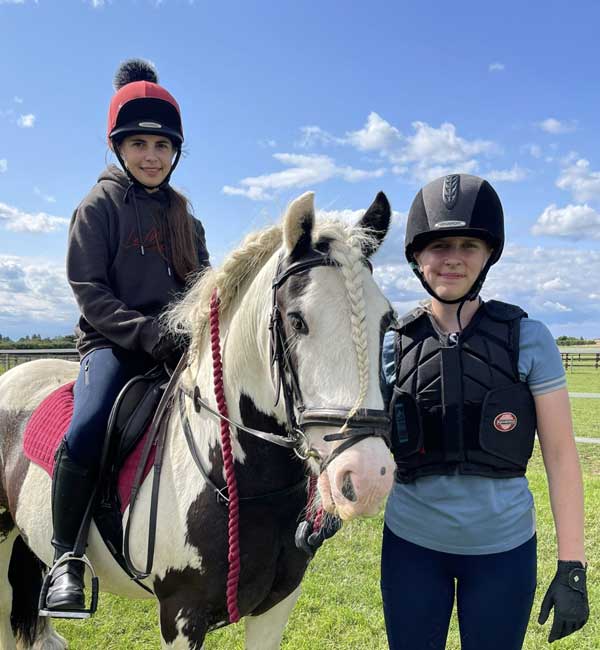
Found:
[[[277,264],[277,271],[272,282],[272,305],[269,319],[270,331],[270,361],[271,377],[275,387],[275,405],[279,403],[281,395],[286,412],[287,435],[275,435],[268,431],[252,429],[232,419],[224,417],[213,409],[203,399],[200,389],[194,386],[193,393],[181,387],[182,392],[189,397],[197,413],[205,410],[216,418],[225,419],[229,424],[240,431],[245,431],[255,437],[276,445],[293,449],[296,455],[303,460],[315,459],[319,463],[320,472],[327,467],[343,452],[354,446],[361,440],[370,437],[382,438],[386,444],[390,444],[390,416],[382,409],[357,409],[352,416],[349,408],[325,407],[307,408],[302,397],[298,375],[292,363],[289,352],[288,340],[285,336],[283,318],[277,303],[279,289],[286,280],[303,271],[317,266],[340,266],[339,263],[326,253],[315,249],[303,259],[284,266],[284,258],[280,257]],[[367,262],[368,263],[368,262]],[[370,266],[370,265],[369,265]],[[182,417],[187,420],[185,409],[181,409]],[[296,417],[298,412],[298,417]],[[308,440],[306,430],[315,426],[339,427],[339,431],[327,434],[323,437],[325,442],[342,441],[327,456],[312,447]]]

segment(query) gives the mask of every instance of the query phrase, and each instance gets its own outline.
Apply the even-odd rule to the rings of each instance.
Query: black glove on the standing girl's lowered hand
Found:
[[[538,623],[548,620],[554,607],[554,621],[548,643],[582,628],[590,615],[586,588],[586,567],[581,562],[558,561],[556,575],[544,596]]]

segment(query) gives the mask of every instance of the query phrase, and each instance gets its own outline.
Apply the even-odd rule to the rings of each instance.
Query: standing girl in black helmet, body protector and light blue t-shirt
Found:
[[[463,650],[519,650],[536,588],[537,430],[558,566],[540,612],[549,641],[588,618],[583,488],[560,354],[514,305],[479,297],[504,246],[500,200],[481,178],[426,185],[408,215],[406,258],[430,294],[386,335],[397,464],[381,588],[392,650],[443,650],[457,600]]]

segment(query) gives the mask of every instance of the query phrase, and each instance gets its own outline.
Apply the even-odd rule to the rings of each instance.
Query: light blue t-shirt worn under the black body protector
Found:
[[[396,378],[394,332],[384,337],[382,371],[388,386]],[[533,395],[566,386],[560,352],[548,328],[521,320],[519,375]],[[525,477],[423,476],[394,482],[385,523],[413,544],[444,553],[501,553],[524,544],[535,533],[533,496]]]

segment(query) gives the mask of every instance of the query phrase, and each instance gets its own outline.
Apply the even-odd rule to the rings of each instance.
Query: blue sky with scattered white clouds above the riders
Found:
[[[508,244],[483,296],[558,336],[600,337],[600,5],[0,0],[0,333],[70,333],[73,209],[112,158],[112,78],[150,59],[178,99],[173,183],[213,262],[312,189],[356,218],[382,189],[394,226],[376,274],[402,311],[414,194],[488,178]]]

